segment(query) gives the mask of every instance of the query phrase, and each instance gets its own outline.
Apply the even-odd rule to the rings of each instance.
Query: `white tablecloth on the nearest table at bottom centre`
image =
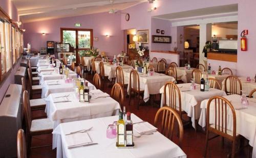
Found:
[[[136,115],[132,114],[133,122],[141,121]],[[53,134],[58,135],[57,157],[144,157],[144,158],[167,158],[167,157],[186,157],[186,154],[179,146],[164,137],[159,132],[154,135],[145,135],[134,138],[135,147],[133,149],[117,149],[116,139],[106,138],[106,127],[118,120],[118,116],[83,120],[69,123],[61,123]],[[68,149],[65,134],[80,129],[93,127],[88,134],[97,145],[76,147]]]

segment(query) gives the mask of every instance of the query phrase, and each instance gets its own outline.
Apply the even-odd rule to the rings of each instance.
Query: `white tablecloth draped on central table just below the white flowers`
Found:
[[[123,70],[123,76],[125,81],[129,81],[131,70]],[[174,82],[175,78],[161,73],[154,73],[153,76],[148,74],[139,73],[140,77],[140,89],[144,90],[143,100],[147,102],[150,99],[150,94],[159,94],[159,90],[166,82]],[[127,92],[130,93],[129,82]]]

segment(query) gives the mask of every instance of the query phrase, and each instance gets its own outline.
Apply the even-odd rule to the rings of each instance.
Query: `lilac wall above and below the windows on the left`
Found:
[[[0,6],[1,8],[8,13],[11,19],[17,20],[17,9],[16,7],[12,4],[11,1],[8,0],[1,0],[0,1]],[[11,70],[11,73],[8,75],[8,77],[5,79],[4,82],[0,84],[0,102],[2,101],[6,90],[8,89],[10,84],[14,83],[14,74],[17,71],[17,68],[20,66],[20,60],[18,63],[13,67]]]

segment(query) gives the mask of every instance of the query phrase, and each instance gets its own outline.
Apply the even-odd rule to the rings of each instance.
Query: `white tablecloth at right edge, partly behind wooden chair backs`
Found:
[[[242,83],[242,90],[245,91],[246,95],[249,95],[253,89],[256,89],[256,83],[254,79],[251,79],[251,82],[247,82],[245,77],[239,77]],[[237,93],[240,93],[239,84],[237,84],[238,90]],[[229,91],[229,84],[227,85],[227,89]],[[222,82],[222,90],[225,90],[225,80]],[[253,98],[256,98],[256,93],[253,94]]]

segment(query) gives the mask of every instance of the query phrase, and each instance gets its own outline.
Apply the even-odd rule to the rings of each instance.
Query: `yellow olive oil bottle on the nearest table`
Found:
[[[119,112],[119,120],[117,121],[117,146],[123,147],[124,144],[124,121],[123,113]]]

